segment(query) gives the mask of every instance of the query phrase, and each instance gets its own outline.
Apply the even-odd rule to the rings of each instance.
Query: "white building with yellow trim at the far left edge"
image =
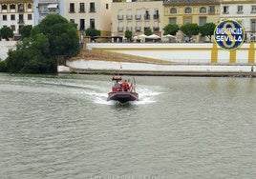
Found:
[[[32,0],[0,0],[0,29],[9,27],[14,38],[19,36],[23,26],[33,26],[33,12]]]

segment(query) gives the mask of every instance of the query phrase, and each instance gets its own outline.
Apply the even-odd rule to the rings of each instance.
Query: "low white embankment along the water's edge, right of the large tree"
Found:
[[[60,73],[115,74],[147,76],[212,76],[212,77],[255,77],[251,65],[212,64],[143,64],[97,60],[67,61],[67,67],[59,66]]]

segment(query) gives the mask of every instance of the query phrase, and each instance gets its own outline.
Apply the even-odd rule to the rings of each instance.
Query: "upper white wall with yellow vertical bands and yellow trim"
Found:
[[[212,43],[89,43],[86,48],[189,64],[254,64],[256,59],[254,43],[231,51]]]

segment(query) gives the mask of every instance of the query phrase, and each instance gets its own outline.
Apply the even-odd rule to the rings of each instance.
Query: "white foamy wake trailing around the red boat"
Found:
[[[82,82],[82,83],[81,83]],[[84,100],[92,101],[93,103],[100,105],[116,105],[116,101],[107,101],[108,92],[110,92],[111,86],[105,81],[94,80],[73,80],[73,79],[42,79],[42,78],[21,78],[15,83],[40,88],[45,88],[48,92],[73,95],[75,98],[81,98]],[[61,88],[61,90],[59,90]],[[23,88],[24,89],[24,88]],[[158,96],[162,93],[161,89],[156,86],[137,86],[137,92],[139,93],[139,101],[127,102],[131,105],[147,105],[157,102]]]

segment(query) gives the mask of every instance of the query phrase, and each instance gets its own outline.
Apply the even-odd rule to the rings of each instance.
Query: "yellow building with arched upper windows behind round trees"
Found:
[[[181,27],[187,23],[196,23],[202,26],[205,23],[218,24],[220,17],[219,0],[166,0],[163,1],[164,16],[163,27],[168,24],[177,24]],[[178,35],[178,41],[183,42],[182,35]],[[196,42],[209,41],[201,36],[194,39]]]

